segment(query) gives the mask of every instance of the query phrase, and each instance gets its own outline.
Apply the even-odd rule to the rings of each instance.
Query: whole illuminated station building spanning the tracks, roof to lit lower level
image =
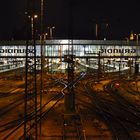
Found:
[[[36,59],[41,59],[41,42],[35,42]],[[25,66],[26,41],[0,42],[0,66]],[[30,48],[30,47],[29,47]],[[45,66],[51,67],[51,72],[65,72],[67,63],[65,56],[73,55],[75,65],[81,71],[87,69],[104,72],[116,72],[133,69],[139,71],[140,46],[135,41],[113,40],[45,40],[43,42]],[[33,51],[32,49],[28,50]],[[54,66],[56,65],[56,66]],[[76,71],[80,71],[76,68]]]

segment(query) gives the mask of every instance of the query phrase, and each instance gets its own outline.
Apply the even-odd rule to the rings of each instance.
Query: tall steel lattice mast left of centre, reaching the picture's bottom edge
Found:
[[[27,1],[26,11],[26,78],[24,108],[24,139],[37,140],[37,73],[36,73],[36,24],[34,1]],[[31,40],[30,40],[31,35]],[[30,40],[30,41],[29,41]]]

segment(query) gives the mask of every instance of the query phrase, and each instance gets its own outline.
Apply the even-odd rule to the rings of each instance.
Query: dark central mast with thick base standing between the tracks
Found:
[[[73,54],[73,0],[68,1],[68,54],[64,61],[68,63],[68,91],[65,94],[66,113],[75,113],[75,93],[73,87],[74,80],[74,54]]]

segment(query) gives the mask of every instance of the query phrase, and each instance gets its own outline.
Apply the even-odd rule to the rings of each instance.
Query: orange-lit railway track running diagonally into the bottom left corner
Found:
[[[37,120],[37,123],[39,123],[40,121],[43,121],[43,119],[46,119],[47,114],[63,98],[63,96],[64,96],[63,94],[59,93],[55,97],[53,97],[50,101],[46,102],[42,106],[41,118],[40,118],[40,115],[39,115],[40,109],[37,110],[37,112],[38,112],[38,120]],[[52,101],[53,101],[53,103],[52,103]],[[50,103],[51,103],[51,105],[50,105]],[[49,104],[49,107],[46,109],[46,106],[48,106],[48,104]],[[27,118],[28,118],[28,121],[34,119],[34,112],[31,112],[27,116]],[[15,126],[15,123],[17,123],[17,122],[18,122],[18,124]],[[11,123],[13,123],[13,122],[11,122]],[[21,135],[18,134],[17,135],[18,136],[17,139],[18,140],[20,140],[20,139],[22,140],[23,139],[23,127],[24,127],[24,123],[25,123],[24,120],[23,120],[23,118],[22,119],[15,120],[15,123],[13,123],[13,125],[11,125],[11,127],[10,127],[10,128],[13,128],[13,129],[10,129],[10,131],[8,131],[6,135],[4,134],[3,137],[1,137],[1,140],[11,140],[18,133],[20,133]],[[31,126],[29,126],[27,132],[30,132],[30,130],[33,127],[34,127],[34,124],[32,124]]]

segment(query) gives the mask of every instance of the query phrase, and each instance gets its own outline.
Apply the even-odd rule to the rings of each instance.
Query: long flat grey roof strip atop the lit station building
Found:
[[[32,41],[29,41],[29,44]],[[36,40],[36,44],[40,44],[40,40]],[[124,46],[138,46],[136,41],[126,41],[126,40],[67,40],[67,39],[52,39],[45,40],[46,45],[59,45],[59,44],[74,44],[74,45],[124,45]],[[12,41],[0,41],[0,46],[8,45],[26,45],[25,40],[12,40]]]

